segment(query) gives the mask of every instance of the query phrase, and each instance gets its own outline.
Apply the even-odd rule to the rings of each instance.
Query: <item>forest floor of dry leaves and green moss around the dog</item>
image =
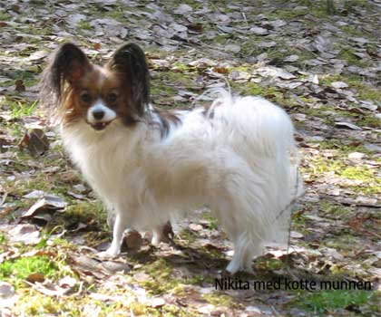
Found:
[[[2,2],[0,316],[381,316],[381,1],[329,3]],[[132,233],[127,253],[97,257],[111,240],[102,204],[37,101],[47,56],[65,41],[94,62],[142,45],[161,108],[191,108],[226,78],[290,114],[306,195],[288,253],[269,250],[236,277],[248,290],[216,289],[231,245],[208,210],[171,244]]]

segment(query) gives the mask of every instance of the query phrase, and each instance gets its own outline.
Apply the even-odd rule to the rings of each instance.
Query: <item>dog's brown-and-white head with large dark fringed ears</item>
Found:
[[[94,65],[73,43],[62,44],[43,73],[41,102],[70,124],[84,120],[94,130],[112,120],[132,125],[150,101],[150,77],[142,49],[128,43],[103,66]]]

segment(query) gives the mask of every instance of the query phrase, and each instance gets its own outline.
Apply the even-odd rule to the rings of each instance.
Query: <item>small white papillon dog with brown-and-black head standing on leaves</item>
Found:
[[[285,242],[298,196],[298,155],[287,113],[259,97],[220,91],[209,106],[159,110],[150,102],[145,54],[134,44],[98,66],[73,43],[43,73],[41,102],[54,110],[73,162],[115,216],[112,244],[127,228],[152,230],[171,216],[208,206],[234,245],[230,274]]]

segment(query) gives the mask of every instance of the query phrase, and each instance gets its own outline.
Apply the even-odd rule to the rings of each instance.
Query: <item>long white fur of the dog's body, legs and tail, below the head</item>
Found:
[[[249,269],[263,245],[287,241],[290,210],[282,210],[302,190],[292,123],[269,101],[227,91],[210,115],[178,115],[165,138],[146,121],[127,128],[114,120],[101,132],[84,121],[62,127],[73,161],[115,213],[105,255],[119,254],[127,227],[151,229],[158,242],[171,215],[207,205],[234,244],[227,270]]]

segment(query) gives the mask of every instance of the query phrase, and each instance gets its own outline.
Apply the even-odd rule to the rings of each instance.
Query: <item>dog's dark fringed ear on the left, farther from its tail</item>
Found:
[[[53,54],[40,82],[40,101],[56,107],[62,100],[65,83],[75,85],[91,67],[83,51],[73,43],[62,44]]]

